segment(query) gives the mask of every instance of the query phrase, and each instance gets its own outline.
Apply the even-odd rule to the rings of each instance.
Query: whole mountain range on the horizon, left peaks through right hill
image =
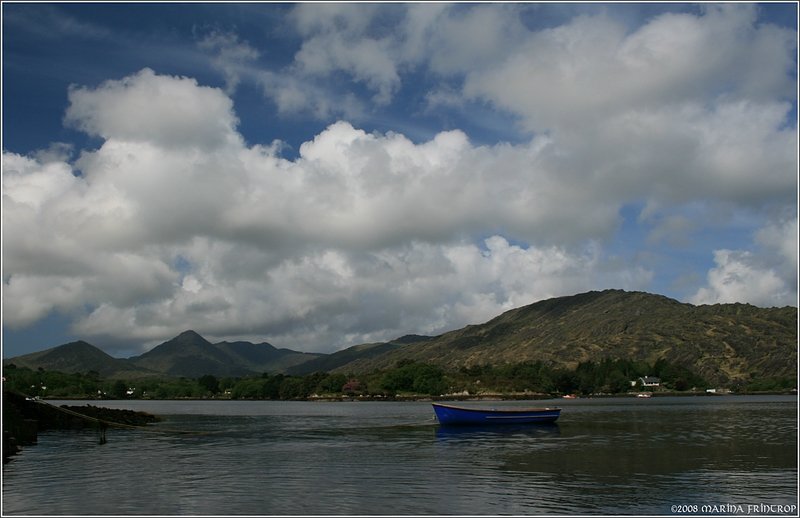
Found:
[[[278,349],[269,343],[212,344],[185,331],[150,351],[113,358],[72,342],[3,360],[4,365],[63,372],[94,370],[108,378],[244,376],[263,372],[363,373],[417,360],[447,369],[542,361],[574,368],[583,361],[663,358],[714,383],[797,376],[795,307],[749,304],[694,306],[643,292],[606,290],[548,299],[488,322],[438,336],[406,335],[332,354]]]

